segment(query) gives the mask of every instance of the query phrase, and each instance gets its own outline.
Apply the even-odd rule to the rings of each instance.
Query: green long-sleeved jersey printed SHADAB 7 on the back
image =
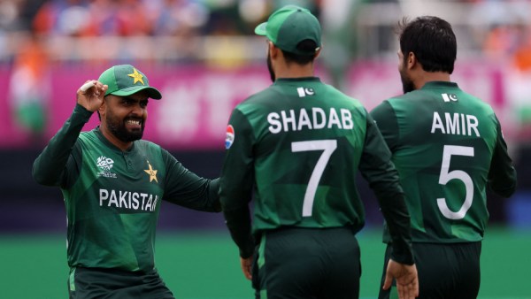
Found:
[[[361,229],[358,169],[396,227],[396,253],[411,253],[408,214],[389,149],[358,100],[318,78],[276,80],[235,107],[226,147],[220,201],[242,257],[253,247],[253,193],[254,234],[281,226]]]

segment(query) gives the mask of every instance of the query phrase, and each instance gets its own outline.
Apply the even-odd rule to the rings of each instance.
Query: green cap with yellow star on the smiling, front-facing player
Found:
[[[105,96],[131,96],[141,90],[146,90],[150,98],[159,100],[162,95],[157,88],[150,87],[150,81],[145,74],[133,65],[114,65],[105,70],[98,79],[109,86]]]

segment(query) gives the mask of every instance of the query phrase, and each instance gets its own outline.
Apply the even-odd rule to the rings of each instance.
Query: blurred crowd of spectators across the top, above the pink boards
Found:
[[[455,13],[453,15],[459,15],[459,19],[450,18],[449,21],[456,27],[467,27],[464,31],[471,38],[466,42],[472,41],[472,50],[481,51],[493,60],[511,61],[524,71],[531,69],[529,0],[0,0],[0,62],[12,61],[19,49],[25,48],[24,42],[28,39],[34,39],[35,46],[35,41],[45,38],[48,43],[45,48],[50,50],[53,49],[50,41],[58,38],[91,41],[90,37],[102,37],[99,40],[109,41],[105,37],[193,40],[197,36],[250,36],[259,22],[284,4],[304,5],[325,27],[337,27],[335,23],[339,19],[340,27],[348,29],[350,35],[358,35],[356,26],[362,26],[356,21],[358,8],[362,4],[382,3],[397,4],[404,15],[435,4],[449,7],[469,4],[465,15]],[[450,10],[461,9],[455,6]],[[343,12],[347,13],[347,18],[330,17]],[[383,14],[378,17],[386,18]],[[372,22],[378,26],[378,19]],[[340,39],[349,42],[344,35]],[[357,49],[350,47],[350,50]],[[365,53],[373,53],[373,49]],[[64,56],[58,59],[70,58]]]

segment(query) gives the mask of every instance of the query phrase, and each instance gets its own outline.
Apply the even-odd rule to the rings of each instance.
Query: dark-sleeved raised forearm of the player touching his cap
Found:
[[[77,141],[81,129],[90,119],[92,112],[76,105],[72,116],[65,121],[58,133],[51,138],[48,146],[35,159],[32,174],[39,184],[59,186],[60,178],[65,172],[68,157]]]

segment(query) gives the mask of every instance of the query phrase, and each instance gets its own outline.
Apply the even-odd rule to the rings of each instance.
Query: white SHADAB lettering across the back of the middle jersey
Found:
[[[303,129],[319,130],[323,128],[339,128],[350,130],[354,127],[352,121],[352,113],[348,109],[339,109],[340,113],[335,111],[335,108],[325,111],[319,107],[312,107],[312,111],[302,108],[300,111],[289,110],[271,112],[267,114],[267,122],[269,123],[269,131],[273,134],[281,131],[301,131]]]

